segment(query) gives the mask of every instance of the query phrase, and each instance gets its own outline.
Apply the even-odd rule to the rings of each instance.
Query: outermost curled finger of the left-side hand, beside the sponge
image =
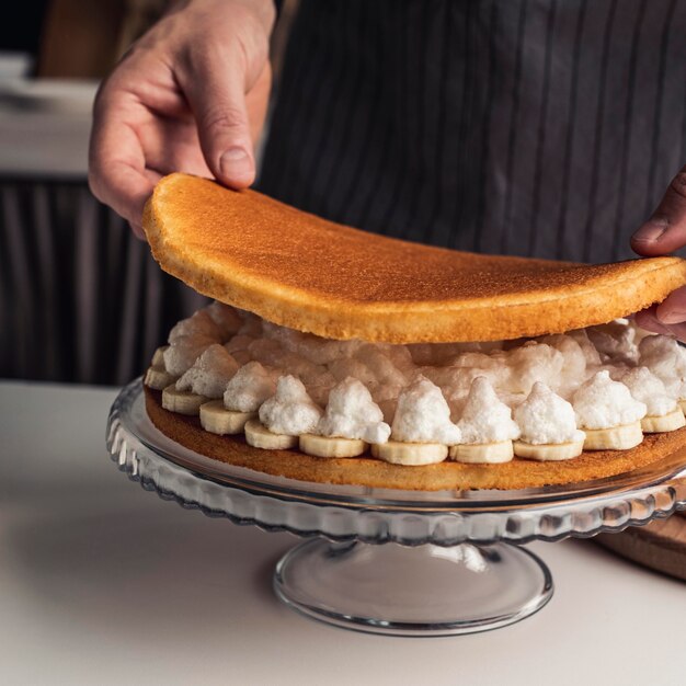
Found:
[[[153,182],[146,173],[140,139],[127,123],[135,107],[126,95],[116,93],[96,105],[89,149],[89,184],[98,199],[140,227]],[[140,112],[140,116],[146,113]]]

